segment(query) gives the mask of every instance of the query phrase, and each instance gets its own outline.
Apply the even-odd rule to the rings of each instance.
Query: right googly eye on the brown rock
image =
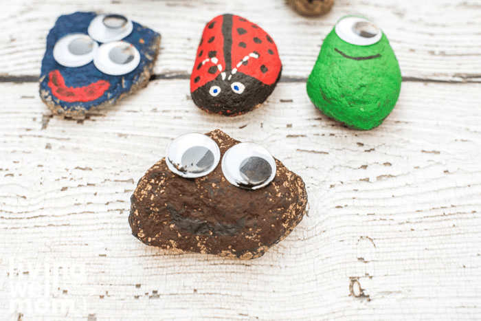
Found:
[[[230,184],[257,190],[267,186],[276,176],[276,160],[258,144],[239,143],[225,152],[222,172]]]

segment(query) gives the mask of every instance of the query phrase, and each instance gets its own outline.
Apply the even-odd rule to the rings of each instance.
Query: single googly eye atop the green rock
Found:
[[[374,45],[383,33],[371,21],[359,16],[346,16],[337,22],[335,32],[339,38],[352,45]]]

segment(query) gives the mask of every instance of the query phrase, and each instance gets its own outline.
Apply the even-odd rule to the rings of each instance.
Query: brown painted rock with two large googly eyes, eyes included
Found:
[[[217,129],[170,144],[140,179],[128,221],[146,245],[249,260],[289,235],[306,203],[301,177]]]

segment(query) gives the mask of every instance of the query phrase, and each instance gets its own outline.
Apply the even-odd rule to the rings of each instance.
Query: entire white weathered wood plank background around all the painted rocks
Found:
[[[282,0],[2,2],[0,320],[481,319],[480,1],[337,0],[313,19]],[[163,36],[156,80],[83,122],[52,117],[36,83],[48,30],[76,10]],[[202,28],[225,12],[267,30],[284,64],[267,103],[236,118],[189,93]],[[381,25],[404,80],[368,132],[326,119],[304,85],[350,13]],[[133,189],[170,140],[216,128],[306,182],[309,216],[254,261],[165,254],[128,226]]]

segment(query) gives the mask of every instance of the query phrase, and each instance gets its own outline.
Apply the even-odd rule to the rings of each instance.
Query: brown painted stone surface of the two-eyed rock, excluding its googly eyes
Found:
[[[207,133],[221,157],[238,144],[215,130]],[[176,253],[198,252],[248,260],[262,256],[301,221],[307,195],[301,177],[277,159],[276,176],[264,188],[230,184],[221,164],[212,173],[186,179],[165,158],[140,179],[131,197],[132,234],[146,245]]]

